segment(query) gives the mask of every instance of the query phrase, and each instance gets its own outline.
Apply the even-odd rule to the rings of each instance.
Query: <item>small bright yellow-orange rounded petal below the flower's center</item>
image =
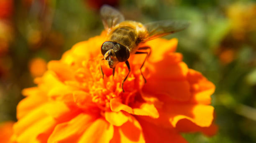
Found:
[[[121,111],[119,112],[105,112],[106,120],[115,126],[121,126],[128,121],[128,117]]]

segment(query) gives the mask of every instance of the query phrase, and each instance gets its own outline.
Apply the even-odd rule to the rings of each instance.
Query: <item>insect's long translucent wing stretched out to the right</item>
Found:
[[[142,40],[146,42],[158,37],[169,35],[184,30],[189,26],[187,21],[162,20],[150,22],[144,25],[148,30],[148,36]]]

